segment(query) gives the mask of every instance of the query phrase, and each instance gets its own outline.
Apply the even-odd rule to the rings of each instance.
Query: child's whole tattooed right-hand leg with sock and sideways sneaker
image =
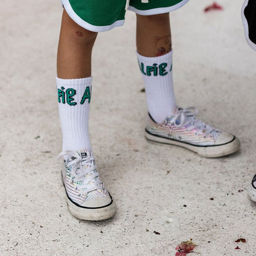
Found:
[[[150,113],[148,140],[182,146],[209,158],[239,149],[234,135],[204,124],[191,109],[176,106],[169,14],[137,15],[137,51]]]

